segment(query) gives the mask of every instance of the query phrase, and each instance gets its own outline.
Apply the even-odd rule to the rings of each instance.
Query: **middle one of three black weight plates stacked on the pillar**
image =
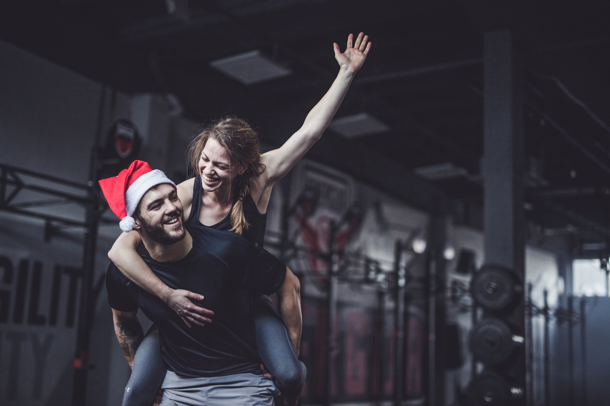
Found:
[[[470,351],[485,365],[508,360],[514,349],[511,328],[497,318],[481,320],[470,332]]]

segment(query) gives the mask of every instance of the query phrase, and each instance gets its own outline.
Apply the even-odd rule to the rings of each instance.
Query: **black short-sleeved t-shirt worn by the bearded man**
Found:
[[[285,265],[231,231],[186,229],[193,237],[193,248],[179,261],[154,261],[143,244],[138,253],[169,287],[203,295],[202,301],[193,303],[215,313],[212,323],[188,327],[167,304],[126,279],[112,262],[106,275],[110,307],[122,312],[142,309],[159,327],[163,359],[180,376],[260,373],[251,296],[276,292],[284,282]]]

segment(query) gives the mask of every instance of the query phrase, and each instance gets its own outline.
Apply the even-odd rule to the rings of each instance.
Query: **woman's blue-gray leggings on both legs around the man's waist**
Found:
[[[286,327],[269,296],[254,298],[253,304],[256,349],[260,358],[274,376],[273,382],[279,391],[284,396],[298,396],[305,385],[305,365],[296,357]],[[167,373],[159,348],[159,330],[153,324],[135,353],[123,406],[151,405]]]

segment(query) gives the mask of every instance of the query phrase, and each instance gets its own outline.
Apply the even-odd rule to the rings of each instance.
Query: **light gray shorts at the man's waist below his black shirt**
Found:
[[[254,374],[188,378],[167,371],[161,389],[160,406],[273,406],[279,394],[272,380]]]

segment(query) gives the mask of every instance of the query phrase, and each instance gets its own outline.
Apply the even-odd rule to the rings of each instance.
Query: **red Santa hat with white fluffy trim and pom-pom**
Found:
[[[159,169],[152,170],[144,161],[133,161],[118,176],[99,181],[99,186],[102,187],[110,209],[121,219],[121,230],[129,233],[134,229],[135,220],[131,215],[138,203],[148,189],[160,183],[170,183],[176,189],[176,184]]]

